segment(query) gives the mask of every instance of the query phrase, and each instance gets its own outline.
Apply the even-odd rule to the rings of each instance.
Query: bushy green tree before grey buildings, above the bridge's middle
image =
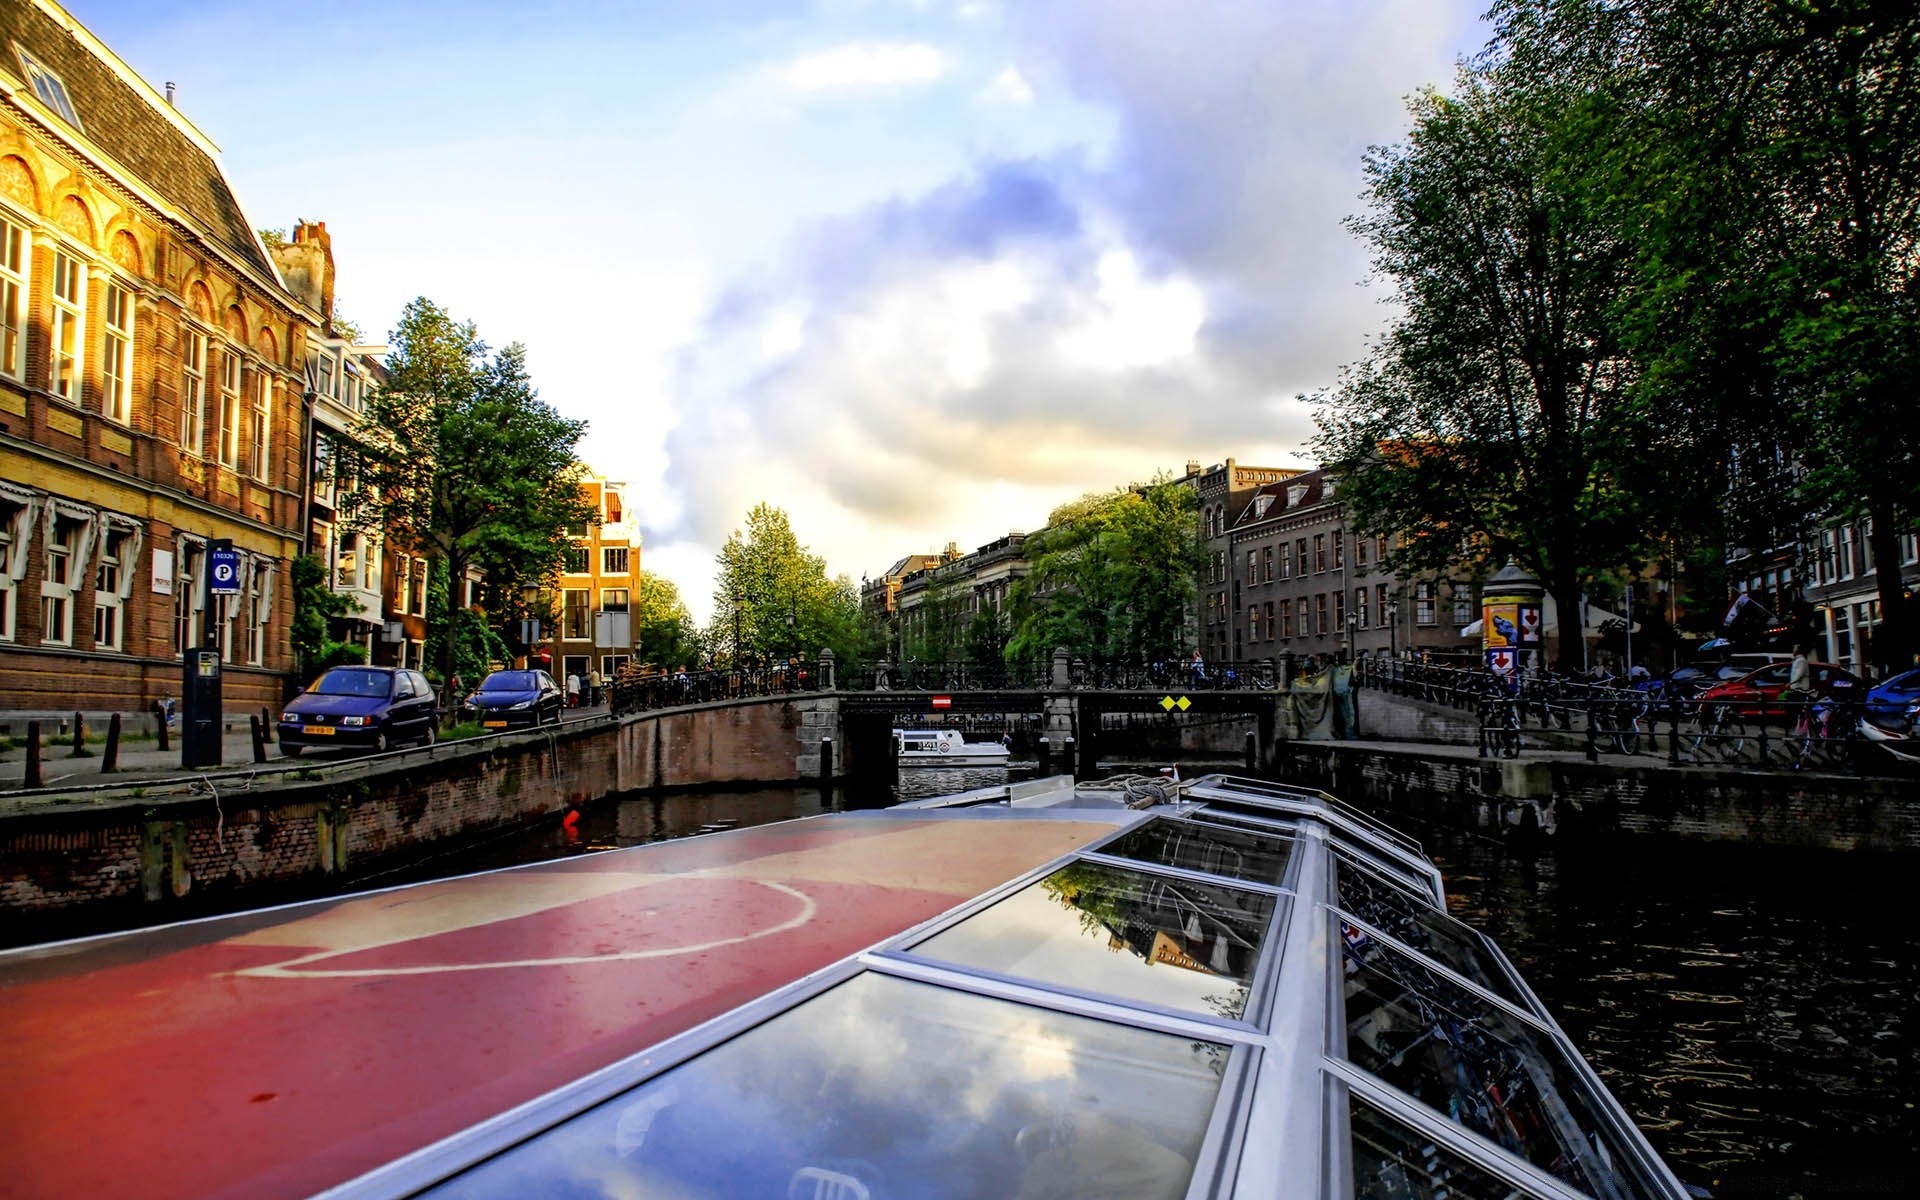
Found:
[[[1192,488],[1169,478],[1054,509],[1027,538],[1031,574],[1012,589],[1006,659],[1041,660],[1054,647],[1092,659],[1177,659],[1206,563],[1196,513]]]

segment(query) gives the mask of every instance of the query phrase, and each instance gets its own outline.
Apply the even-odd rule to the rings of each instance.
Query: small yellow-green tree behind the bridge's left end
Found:
[[[852,582],[828,578],[826,561],[801,545],[785,511],[756,503],[745,534],[733,530],[716,561],[714,616],[705,634],[716,659],[747,666],[831,647],[841,660],[856,660],[870,649]]]

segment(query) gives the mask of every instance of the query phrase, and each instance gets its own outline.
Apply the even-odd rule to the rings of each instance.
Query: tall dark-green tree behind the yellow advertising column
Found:
[[[1348,225],[1398,317],[1315,397],[1317,447],[1356,526],[1404,534],[1392,568],[1513,557],[1578,612],[1588,572],[1651,549],[1661,495],[1636,480],[1661,451],[1613,321],[1628,252],[1596,186],[1611,108],[1482,63],[1367,154],[1371,207]]]

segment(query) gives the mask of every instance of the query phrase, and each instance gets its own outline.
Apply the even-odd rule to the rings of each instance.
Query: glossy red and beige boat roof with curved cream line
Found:
[[[305,1196],[1112,829],[845,814],[0,954],[0,1196]]]

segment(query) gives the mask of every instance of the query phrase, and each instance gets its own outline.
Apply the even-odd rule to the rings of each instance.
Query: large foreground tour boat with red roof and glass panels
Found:
[[[1417,843],[1054,778],[0,954],[0,1194],[1661,1198]]]

